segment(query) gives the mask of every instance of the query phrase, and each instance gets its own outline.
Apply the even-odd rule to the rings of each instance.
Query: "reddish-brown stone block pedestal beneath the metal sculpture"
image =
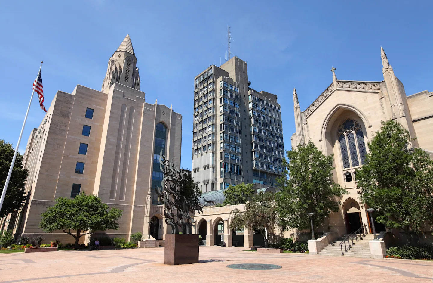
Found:
[[[198,234],[165,234],[164,264],[198,263]]]

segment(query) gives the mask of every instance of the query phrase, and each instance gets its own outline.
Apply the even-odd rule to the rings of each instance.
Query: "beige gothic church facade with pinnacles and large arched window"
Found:
[[[301,111],[296,89],[293,92],[296,133],[292,147],[311,140],[323,154],[334,155],[333,179],[349,194],[341,199],[340,211],[323,224],[323,231],[345,234],[361,226],[372,233],[385,231],[378,223],[370,223],[365,212],[368,204],[360,198],[356,187],[356,171],[368,153],[367,143],[380,130],[381,121],[395,120],[416,138],[410,146],[420,147],[433,157],[433,92],[406,95],[403,83],[381,48],[382,81],[348,81],[336,78],[317,99]]]

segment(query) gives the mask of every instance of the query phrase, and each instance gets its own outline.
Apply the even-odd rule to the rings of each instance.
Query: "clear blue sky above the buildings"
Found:
[[[0,139],[15,146],[41,60],[48,107],[57,90],[100,90],[129,33],[146,101],[183,115],[181,166],[191,169],[194,76],[224,62],[229,25],[251,87],[278,95],[290,149],[293,88],[304,111],[332,81],[332,66],[339,79],[381,81],[380,46],[406,94],[433,91],[432,10],[432,1],[6,1]],[[44,113],[35,97],[21,152]]]

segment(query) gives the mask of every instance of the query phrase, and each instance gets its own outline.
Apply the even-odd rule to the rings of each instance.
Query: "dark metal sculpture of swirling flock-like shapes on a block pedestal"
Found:
[[[187,186],[187,174],[179,170],[172,161],[169,161],[162,154],[159,155],[159,168],[163,172],[161,181],[162,191],[155,188],[158,201],[164,205],[165,223],[171,226],[173,234],[179,233],[179,227],[185,228],[186,234],[192,234],[194,226],[194,210],[203,212],[204,204],[190,202],[184,196],[184,189]]]

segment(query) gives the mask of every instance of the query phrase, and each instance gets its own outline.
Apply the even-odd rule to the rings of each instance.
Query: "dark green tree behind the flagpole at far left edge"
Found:
[[[10,163],[12,162],[14,149],[12,144],[0,140],[0,195],[3,192],[4,183],[6,182],[7,173],[9,172]],[[21,208],[26,202],[25,193],[26,179],[29,171],[23,169],[23,156],[16,154],[13,165],[12,175],[10,176],[6,196],[0,211],[0,218],[5,217],[11,212]]]

